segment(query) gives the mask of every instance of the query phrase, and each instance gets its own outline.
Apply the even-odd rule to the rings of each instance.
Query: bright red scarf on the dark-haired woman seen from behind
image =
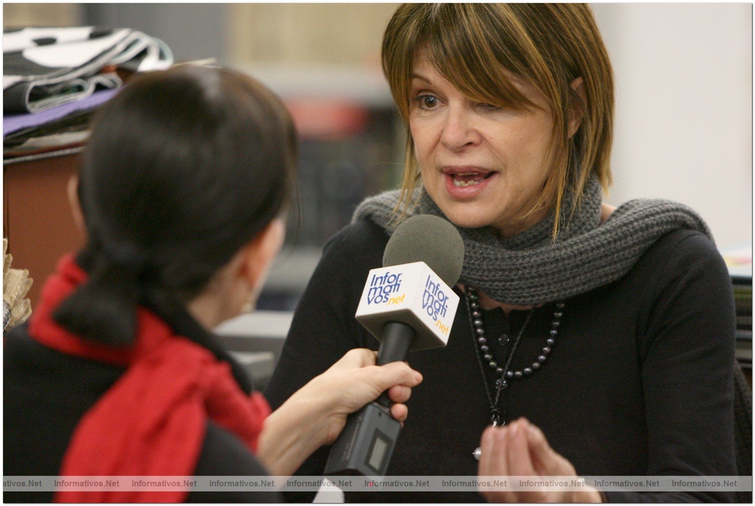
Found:
[[[137,340],[128,348],[85,341],[52,318],[87,275],[73,255],[63,257],[42,289],[29,323],[39,343],[126,372],[75,428],[60,476],[193,476],[208,419],[236,434],[254,452],[270,406],[247,396],[230,366],[205,347],[174,335],[154,313],[137,311]],[[188,489],[169,492],[55,492],[56,502],[180,502]]]

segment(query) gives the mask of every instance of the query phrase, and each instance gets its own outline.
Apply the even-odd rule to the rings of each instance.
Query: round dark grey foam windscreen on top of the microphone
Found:
[[[453,287],[464,265],[464,241],[456,227],[433,214],[416,214],[402,221],[385,247],[383,267],[412,262],[424,262]]]

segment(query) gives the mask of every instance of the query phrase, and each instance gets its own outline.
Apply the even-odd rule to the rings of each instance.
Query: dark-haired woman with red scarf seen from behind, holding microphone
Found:
[[[406,417],[400,403],[421,375],[405,363],[374,366],[371,350],[334,361],[270,414],[208,332],[259,293],[285,233],[279,215],[295,155],[280,100],[230,70],[150,73],[103,107],[78,180],[85,248],[60,261],[28,328],[6,336],[6,474],[288,475],[387,388],[399,403],[393,415]],[[75,181],[71,189],[77,201]],[[5,499],[276,495],[174,489]]]

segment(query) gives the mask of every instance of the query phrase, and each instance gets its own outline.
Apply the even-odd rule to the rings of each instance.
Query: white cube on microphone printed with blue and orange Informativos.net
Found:
[[[459,296],[424,262],[373,269],[367,276],[356,319],[377,340],[387,322],[411,326],[417,337],[409,350],[448,343]]]

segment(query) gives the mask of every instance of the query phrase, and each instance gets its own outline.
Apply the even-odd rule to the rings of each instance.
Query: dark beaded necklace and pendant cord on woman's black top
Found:
[[[563,301],[556,303],[556,310],[553,311],[553,322],[551,322],[551,329],[548,338],[545,340],[545,346],[541,350],[541,354],[538,358],[532,362],[528,367],[522,368],[518,371],[510,370],[511,361],[516,353],[516,347],[519,345],[519,341],[522,339],[525,328],[532,318],[532,313],[535,312],[533,307],[527,313],[525,321],[522,323],[522,328],[519,329],[519,334],[516,335],[511,350],[509,351],[508,358],[503,367],[500,367],[491,353],[490,346],[488,345],[488,338],[485,337],[484,323],[482,322],[482,308],[479,304],[479,295],[476,288],[467,286],[464,291],[464,300],[467,302],[467,314],[470,318],[470,327],[472,329],[472,338],[475,343],[475,352],[477,356],[477,363],[479,370],[482,373],[482,382],[485,386],[485,394],[488,396],[488,402],[490,403],[490,419],[491,423],[495,427],[496,425],[506,424],[506,413],[501,407],[501,391],[503,391],[509,385],[509,381],[513,379],[521,380],[527,378],[541,369],[543,363],[545,363],[547,357],[550,355],[553,345],[556,344],[556,337],[559,334],[559,326],[561,326],[561,317],[563,316],[563,308],[565,306]],[[498,344],[502,347],[507,346],[510,343],[510,339],[506,334],[501,335],[498,338]],[[495,372],[498,379],[495,381],[495,395],[492,395],[490,387],[488,386],[488,378],[485,375],[485,366],[483,362],[487,363],[488,367]],[[477,448],[473,455],[479,460],[480,449]]]

